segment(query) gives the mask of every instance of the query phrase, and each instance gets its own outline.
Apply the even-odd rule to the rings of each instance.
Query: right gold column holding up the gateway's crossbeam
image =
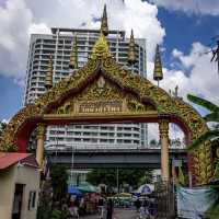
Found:
[[[162,181],[169,181],[169,120],[159,120],[159,131],[161,141],[161,177]]]

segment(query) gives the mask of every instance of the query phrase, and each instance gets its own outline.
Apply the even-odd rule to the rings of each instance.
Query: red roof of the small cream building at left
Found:
[[[0,152],[0,170],[4,170],[18,162],[38,168],[36,159],[30,153]]]

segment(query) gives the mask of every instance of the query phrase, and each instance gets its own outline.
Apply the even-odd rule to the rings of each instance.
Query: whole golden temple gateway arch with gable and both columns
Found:
[[[36,128],[36,158],[41,163],[46,126],[120,122],[159,123],[163,178],[169,178],[169,123],[184,130],[187,145],[208,130],[191,105],[116,64],[101,34],[83,68],[13,116],[3,132],[0,150],[15,146],[25,152],[30,135]],[[196,150],[189,160],[193,184],[208,183],[212,175],[209,145]]]

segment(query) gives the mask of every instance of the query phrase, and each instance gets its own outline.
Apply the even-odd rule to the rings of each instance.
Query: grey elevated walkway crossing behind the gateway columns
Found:
[[[51,163],[66,164],[77,169],[95,168],[150,168],[160,169],[160,149],[77,149],[47,151]],[[186,162],[185,149],[170,149],[170,160]]]

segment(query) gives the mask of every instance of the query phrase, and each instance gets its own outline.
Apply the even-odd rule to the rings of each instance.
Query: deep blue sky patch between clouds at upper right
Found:
[[[216,15],[188,14],[159,8],[158,19],[166,32],[163,43],[166,49],[163,61],[166,66],[171,64],[170,55],[174,48],[187,54],[194,42],[209,45],[212,43],[211,37],[219,34],[219,16]]]

